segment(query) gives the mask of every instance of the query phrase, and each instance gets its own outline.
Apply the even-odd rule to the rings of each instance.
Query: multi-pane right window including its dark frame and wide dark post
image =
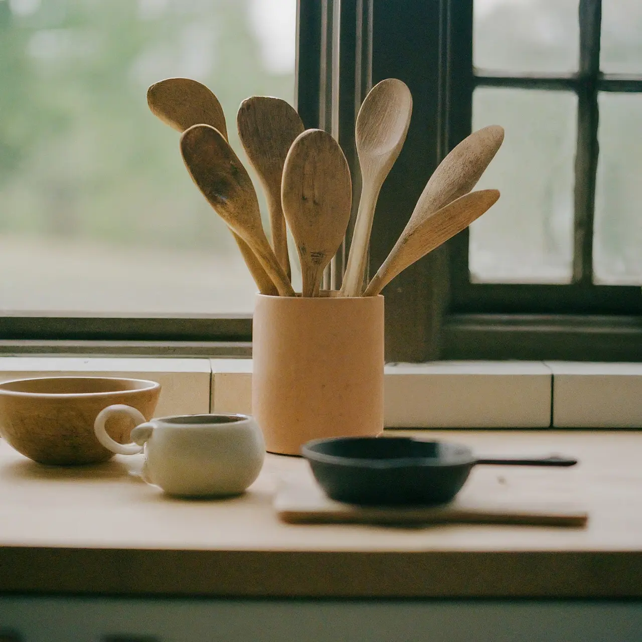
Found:
[[[639,3],[404,7],[403,18],[397,3],[372,8],[372,82],[396,75],[414,102],[377,208],[371,270],[447,150],[490,122],[507,137],[480,183],[503,191],[498,205],[386,289],[388,356],[642,358],[640,161],[622,158],[641,124]]]

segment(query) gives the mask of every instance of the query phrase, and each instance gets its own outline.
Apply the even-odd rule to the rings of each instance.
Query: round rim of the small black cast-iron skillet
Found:
[[[431,444],[447,444],[448,446],[455,446],[464,449],[465,454],[456,459],[444,460],[437,457],[394,457],[394,458],[372,458],[367,459],[363,457],[347,457],[342,455],[327,455],[327,453],[318,453],[314,450],[318,444],[327,442],[340,442],[340,441],[371,441],[374,439],[395,439],[409,442],[423,442]],[[418,439],[415,437],[328,437],[320,439],[312,439],[301,447],[301,454],[309,460],[309,462],[317,462],[319,464],[330,464],[338,467],[350,467],[361,469],[399,469],[399,468],[453,468],[461,465],[474,465],[476,458],[473,454],[473,449],[465,444],[458,442],[451,442],[441,439]]]

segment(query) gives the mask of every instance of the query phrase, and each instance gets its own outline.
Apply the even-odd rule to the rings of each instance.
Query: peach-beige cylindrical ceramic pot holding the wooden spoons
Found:
[[[252,413],[271,453],[383,430],[383,297],[257,294]]]

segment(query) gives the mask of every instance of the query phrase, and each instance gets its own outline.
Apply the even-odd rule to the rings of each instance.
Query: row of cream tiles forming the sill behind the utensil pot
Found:
[[[157,416],[251,412],[252,361],[0,357],[0,380],[131,376],[162,386]],[[439,361],[385,367],[388,428],[640,428],[642,363]]]

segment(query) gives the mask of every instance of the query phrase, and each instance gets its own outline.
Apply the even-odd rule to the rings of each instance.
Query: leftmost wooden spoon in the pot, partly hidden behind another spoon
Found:
[[[196,80],[167,78],[154,83],[147,90],[147,104],[154,116],[178,132],[182,133],[192,125],[204,123],[218,129],[227,140],[227,126],[221,103],[205,85]],[[254,252],[234,231],[232,236],[259,291],[263,294],[277,294],[272,279]]]

